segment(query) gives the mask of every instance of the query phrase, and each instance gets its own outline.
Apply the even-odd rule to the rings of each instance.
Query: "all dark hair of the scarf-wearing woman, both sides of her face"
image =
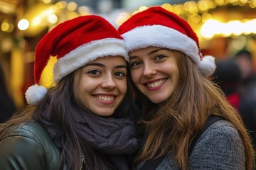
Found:
[[[75,130],[73,113],[76,111],[86,112],[85,108],[80,107],[80,104],[75,100],[75,74],[80,74],[81,69],[68,74],[56,86],[48,89],[48,93],[43,100],[36,106],[26,106],[26,108],[18,111],[9,121],[0,125],[0,139],[9,133],[13,128],[16,128],[21,123],[40,120],[41,115],[46,109],[50,113],[51,123],[58,126],[60,132],[55,141],[58,141],[63,147],[60,157],[60,169],[68,166],[68,169],[80,169],[80,156],[85,154],[86,162],[83,166],[85,169],[116,169],[107,161],[109,158],[100,152],[95,151],[86,141],[83,141]],[[112,115],[114,118],[129,117],[132,113],[132,101],[126,94],[120,106]],[[46,108],[48,107],[48,108]]]

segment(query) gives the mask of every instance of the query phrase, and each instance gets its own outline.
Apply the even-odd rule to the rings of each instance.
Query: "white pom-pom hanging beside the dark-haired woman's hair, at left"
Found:
[[[30,86],[26,91],[26,101],[28,104],[36,105],[39,103],[47,94],[47,89],[43,86],[35,84]]]

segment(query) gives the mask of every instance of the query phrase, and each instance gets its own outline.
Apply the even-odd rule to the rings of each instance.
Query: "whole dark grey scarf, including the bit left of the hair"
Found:
[[[63,148],[55,140],[63,130],[50,121],[50,113],[45,111],[39,121],[46,128],[55,145],[60,149]],[[78,136],[87,141],[97,152],[112,155],[132,154],[138,148],[136,125],[132,120],[101,117],[87,111],[77,111],[73,113],[73,122]]]

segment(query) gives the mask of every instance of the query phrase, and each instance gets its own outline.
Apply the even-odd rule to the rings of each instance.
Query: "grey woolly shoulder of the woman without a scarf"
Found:
[[[190,157],[192,169],[245,169],[245,149],[238,130],[218,120],[203,132]]]

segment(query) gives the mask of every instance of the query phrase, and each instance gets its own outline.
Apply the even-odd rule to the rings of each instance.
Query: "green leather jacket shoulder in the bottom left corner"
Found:
[[[60,150],[38,122],[18,126],[0,140],[1,169],[59,169]]]

